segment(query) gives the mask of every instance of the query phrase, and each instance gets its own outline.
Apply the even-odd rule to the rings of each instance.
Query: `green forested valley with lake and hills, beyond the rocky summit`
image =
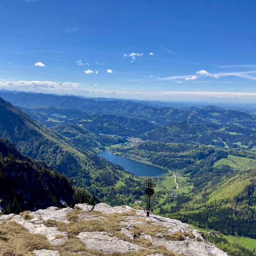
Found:
[[[0,96],[0,136],[67,175],[88,200],[144,208],[142,184],[150,176],[155,214],[237,237],[244,246],[256,239],[254,116],[215,106],[179,110],[50,94]]]

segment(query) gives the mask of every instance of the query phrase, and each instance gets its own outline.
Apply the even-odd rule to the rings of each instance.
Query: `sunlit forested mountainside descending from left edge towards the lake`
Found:
[[[125,203],[116,195],[115,184],[124,175],[140,182],[121,166],[112,164],[87,148],[37,123],[11,103],[0,98],[0,137],[14,142],[23,154],[51,165],[72,178],[74,184],[111,204]],[[140,184],[141,186],[141,184]],[[130,193],[128,190],[126,193]],[[135,193],[136,194],[136,193]],[[142,191],[140,192],[142,194]]]

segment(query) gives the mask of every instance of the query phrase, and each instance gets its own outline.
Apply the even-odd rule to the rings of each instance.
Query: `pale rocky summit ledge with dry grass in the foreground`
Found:
[[[179,220],[103,203],[2,215],[0,230],[0,255],[227,256]]]

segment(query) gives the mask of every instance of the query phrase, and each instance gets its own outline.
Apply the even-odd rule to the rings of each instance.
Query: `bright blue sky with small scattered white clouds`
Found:
[[[256,1],[1,0],[0,89],[256,102]]]

